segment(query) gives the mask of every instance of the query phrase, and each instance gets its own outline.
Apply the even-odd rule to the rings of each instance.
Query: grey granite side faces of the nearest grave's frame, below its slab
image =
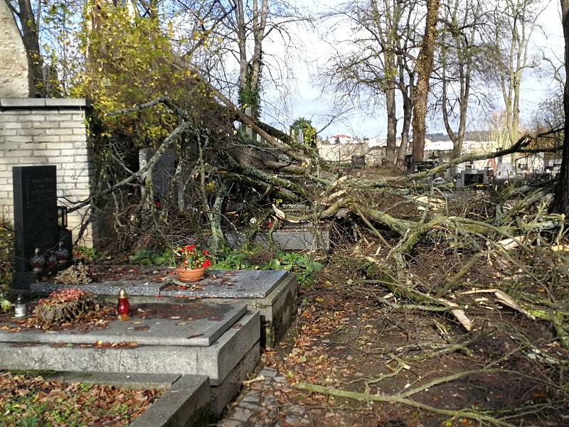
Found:
[[[12,333],[18,335],[20,333]],[[87,344],[14,342],[1,335],[0,369],[55,371],[161,372],[199,374],[223,382],[251,350],[259,351],[260,315],[248,312],[210,346],[137,345],[100,348]],[[65,343],[65,341],[63,341]]]

